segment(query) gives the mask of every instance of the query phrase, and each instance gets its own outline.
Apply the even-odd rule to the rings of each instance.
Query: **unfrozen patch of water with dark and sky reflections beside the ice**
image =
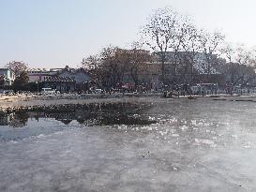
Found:
[[[128,103],[84,104],[2,111],[0,140],[23,140],[77,126],[145,126],[157,121],[142,117],[150,105]]]

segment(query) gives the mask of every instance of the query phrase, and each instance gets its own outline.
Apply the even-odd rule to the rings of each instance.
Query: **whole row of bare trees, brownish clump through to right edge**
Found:
[[[196,68],[202,68],[208,81],[214,73],[223,74],[233,85],[244,85],[255,79],[255,51],[242,45],[232,46],[221,32],[200,29],[190,18],[173,8],[154,11],[143,26],[141,35],[137,46],[128,50],[107,47],[97,55],[83,58],[83,67],[90,70],[102,85],[112,87],[122,83],[124,74],[129,71],[135,86],[138,86],[138,74],[155,54],[162,84],[192,84],[199,73]],[[142,49],[149,49],[153,54],[138,52]],[[200,57],[203,57],[203,62],[199,62]],[[170,66],[171,79],[167,78],[170,73],[167,67]]]

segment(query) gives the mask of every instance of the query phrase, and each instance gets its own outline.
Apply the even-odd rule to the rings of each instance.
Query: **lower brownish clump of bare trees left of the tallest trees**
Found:
[[[141,49],[139,43],[133,43],[129,50],[107,47],[97,55],[83,59],[82,65],[91,74],[91,78],[103,87],[118,88],[126,74],[134,82],[135,88],[140,84],[140,75],[146,71],[150,62],[150,52]]]

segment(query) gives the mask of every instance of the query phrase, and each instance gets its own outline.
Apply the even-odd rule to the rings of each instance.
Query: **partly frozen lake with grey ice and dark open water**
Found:
[[[256,191],[256,103],[1,113],[0,191]]]

